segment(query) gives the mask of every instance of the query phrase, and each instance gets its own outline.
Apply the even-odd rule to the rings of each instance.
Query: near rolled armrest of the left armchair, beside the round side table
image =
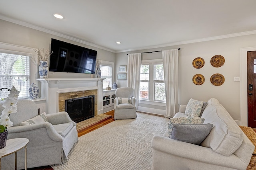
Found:
[[[39,137],[40,136],[40,137]],[[51,123],[45,122],[35,125],[14,126],[8,128],[8,139],[24,137],[30,141],[34,140],[52,140],[62,142],[64,138],[58,134]],[[37,139],[35,139],[37,138]]]

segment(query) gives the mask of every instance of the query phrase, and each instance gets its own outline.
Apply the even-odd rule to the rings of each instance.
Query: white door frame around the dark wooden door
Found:
[[[240,119],[242,126],[248,126],[247,104],[247,52],[256,51],[256,47],[246,47],[240,50],[241,78],[240,78]]]

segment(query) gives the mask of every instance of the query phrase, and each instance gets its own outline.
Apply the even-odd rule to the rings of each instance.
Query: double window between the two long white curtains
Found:
[[[140,100],[165,102],[164,67],[159,60],[142,61]]]

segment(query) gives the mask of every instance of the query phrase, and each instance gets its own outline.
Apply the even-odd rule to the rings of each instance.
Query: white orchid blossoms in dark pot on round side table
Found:
[[[8,98],[4,99],[3,104],[3,111],[2,115],[0,115],[0,133],[3,133],[8,127],[12,126],[12,121],[10,121],[9,115],[10,113],[16,113],[17,112],[17,103],[18,103],[18,96],[19,91],[16,90],[14,86],[12,86],[12,89],[10,91],[10,94],[8,95]]]

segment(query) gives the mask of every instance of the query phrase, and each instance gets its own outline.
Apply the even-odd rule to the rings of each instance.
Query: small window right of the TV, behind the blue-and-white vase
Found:
[[[101,64],[100,64],[101,78],[106,78],[105,80],[103,80],[103,90],[105,90],[108,86],[112,88],[113,67],[114,67],[114,63],[101,61]]]

